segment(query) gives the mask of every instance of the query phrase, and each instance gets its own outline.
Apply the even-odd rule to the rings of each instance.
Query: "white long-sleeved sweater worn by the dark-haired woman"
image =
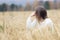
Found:
[[[33,15],[33,13],[31,15]],[[54,24],[50,18],[46,18],[43,22],[39,24],[36,19],[34,19],[33,21],[31,20],[31,15],[28,17],[27,22],[26,22],[27,29],[31,29],[34,27],[39,28],[39,29],[49,27],[51,32],[54,31]]]

